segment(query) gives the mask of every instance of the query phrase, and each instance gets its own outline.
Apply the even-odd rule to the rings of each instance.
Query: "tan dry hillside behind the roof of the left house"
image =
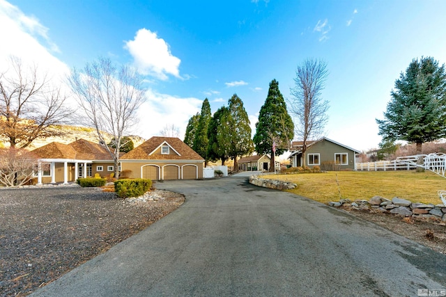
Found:
[[[61,137],[48,137],[45,139],[39,138],[33,141],[29,147],[27,147],[29,150],[34,150],[38,147],[42,147],[43,145],[47,145],[48,143],[52,142],[58,142],[63,144],[72,143],[73,141],[76,141],[77,139],[85,139],[86,141],[91,141],[93,143],[98,143],[98,135],[96,134],[95,129],[89,128],[89,127],[79,127],[79,126],[70,126],[70,125],[57,125],[54,126],[52,129],[57,129],[63,131],[65,134]],[[130,136],[134,143],[134,147],[137,147],[141,143],[144,143],[146,139],[141,138],[139,136]],[[112,135],[107,134],[106,141],[107,143],[110,142],[112,139]],[[3,143],[4,145],[4,143]],[[1,145],[0,145],[1,146]]]

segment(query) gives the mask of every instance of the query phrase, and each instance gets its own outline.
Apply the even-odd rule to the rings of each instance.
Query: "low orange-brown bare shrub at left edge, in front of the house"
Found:
[[[34,177],[37,158],[30,152],[15,147],[0,150],[0,184],[22,186]]]

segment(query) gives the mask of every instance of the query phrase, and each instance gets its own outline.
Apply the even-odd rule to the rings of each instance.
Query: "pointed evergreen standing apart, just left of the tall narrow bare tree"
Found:
[[[274,170],[275,160],[272,144],[276,145],[276,154],[283,154],[289,148],[294,136],[294,124],[286,110],[284,97],[279,90],[279,82],[270,82],[268,97],[260,109],[259,122],[254,135],[255,150],[259,154],[271,154],[270,170]]]

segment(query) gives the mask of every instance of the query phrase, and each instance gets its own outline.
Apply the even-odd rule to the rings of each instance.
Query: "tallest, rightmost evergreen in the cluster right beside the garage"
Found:
[[[249,117],[243,107],[243,101],[234,94],[228,102],[228,111],[224,115],[224,120],[229,129],[227,137],[229,138],[229,156],[234,161],[234,169],[237,166],[237,157],[250,154],[254,151],[254,143],[251,139],[251,127],[249,126]]]

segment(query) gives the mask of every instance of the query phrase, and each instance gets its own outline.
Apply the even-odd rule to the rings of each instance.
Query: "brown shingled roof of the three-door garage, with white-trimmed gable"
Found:
[[[153,154],[163,144],[169,145],[175,154]],[[153,136],[145,143],[124,154],[121,160],[197,160],[204,159],[180,138]]]

